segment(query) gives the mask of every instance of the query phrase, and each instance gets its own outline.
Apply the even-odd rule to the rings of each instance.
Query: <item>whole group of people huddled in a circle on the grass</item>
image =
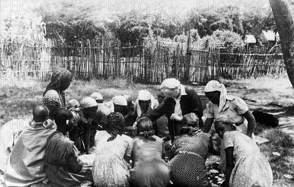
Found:
[[[6,186],[49,179],[54,187],[80,187],[83,181],[95,187],[209,187],[205,161],[218,151],[208,133],[213,123],[222,139],[222,186],[272,186],[270,164],[255,142],[254,116],[220,82],[204,88],[210,102],[203,123],[196,91],[176,79],[162,82],[157,100],[140,90],[135,102],[120,95],[104,103],[96,92],[66,106],[71,81],[68,70],[54,70],[33,119],[2,127]],[[91,155],[93,163],[82,161]]]

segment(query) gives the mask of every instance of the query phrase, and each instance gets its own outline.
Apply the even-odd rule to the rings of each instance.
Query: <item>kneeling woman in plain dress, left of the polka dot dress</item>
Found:
[[[133,187],[165,187],[170,184],[171,168],[162,159],[163,141],[154,135],[152,121],[140,118],[137,122],[137,136],[133,138],[133,168],[131,185]]]

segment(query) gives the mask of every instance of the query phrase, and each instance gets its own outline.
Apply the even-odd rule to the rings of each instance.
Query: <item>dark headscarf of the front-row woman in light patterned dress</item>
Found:
[[[119,112],[112,112],[107,116],[107,124],[103,126],[103,129],[111,135],[107,141],[114,140],[118,134],[123,134],[124,118],[123,114]]]

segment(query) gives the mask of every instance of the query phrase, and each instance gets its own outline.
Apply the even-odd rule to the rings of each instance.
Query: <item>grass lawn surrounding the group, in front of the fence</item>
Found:
[[[23,119],[32,117],[32,108],[42,105],[42,94],[49,82],[34,81],[30,83],[7,80],[5,85],[0,85],[0,123],[1,125],[10,119]],[[258,107],[271,106],[283,111],[293,111],[294,90],[287,76],[220,80],[227,86],[228,94],[245,99],[246,103]],[[1,79],[3,82],[3,79]],[[9,85],[8,83],[9,82]],[[197,92],[203,93],[203,85],[194,85]],[[109,101],[113,96],[129,94],[133,100],[137,98],[138,91],[146,89],[153,95],[156,94],[158,85],[144,85],[128,80],[73,80],[65,91],[66,101],[77,99],[81,101],[93,92],[103,95],[104,101]],[[294,115],[294,114],[293,114]],[[273,172],[275,187],[293,187],[294,180],[284,177],[284,174],[294,176],[294,140],[288,134],[278,129],[270,129],[257,125],[255,134],[267,138],[269,143],[260,145],[262,153],[267,157]],[[272,152],[279,152],[281,156],[274,156]],[[211,165],[218,160],[212,156],[207,160]],[[291,169],[292,168],[292,169]],[[0,175],[2,180],[3,175]],[[2,186],[3,184],[0,184]],[[43,186],[39,185],[38,187]]]

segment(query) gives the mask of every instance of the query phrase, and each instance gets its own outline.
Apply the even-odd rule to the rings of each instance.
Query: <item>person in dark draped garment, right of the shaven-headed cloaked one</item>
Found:
[[[57,125],[46,144],[46,174],[54,187],[76,187],[80,181],[93,181],[91,173],[78,173],[83,162],[77,158],[78,150],[68,137],[67,132],[73,130],[73,114],[64,108],[54,114]],[[87,177],[85,174],[88,174]]]

